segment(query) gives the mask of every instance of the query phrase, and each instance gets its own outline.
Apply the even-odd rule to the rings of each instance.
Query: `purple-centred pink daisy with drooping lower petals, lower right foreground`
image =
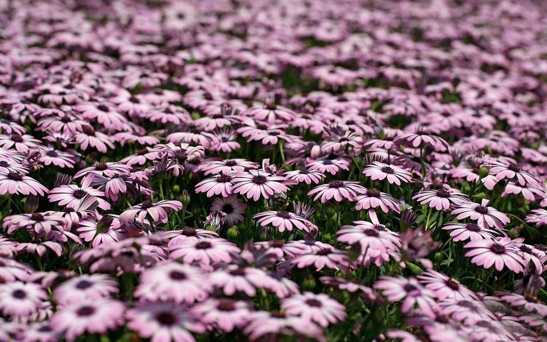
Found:
[[[382,294],[390,302],[403,300],[401,311],[404,314],[413,310],[414,305],[418,304],[424,315],[435,318],[433,293],[422,287],[415,278],[405,278],[400,275],[397,277],[380,276],[380,280],[377,280],[373,287],[383,289]]]

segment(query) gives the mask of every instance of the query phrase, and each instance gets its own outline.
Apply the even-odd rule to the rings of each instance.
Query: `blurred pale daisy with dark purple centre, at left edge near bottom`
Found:
[[[0,285],[0,309],[6,316],[25,317],[42,308],[48,294],[35,283],[10,281]]]

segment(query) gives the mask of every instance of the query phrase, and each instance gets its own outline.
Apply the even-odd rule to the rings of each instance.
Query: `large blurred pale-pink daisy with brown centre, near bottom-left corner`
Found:
[[[51,317],[51,326],[68,341],[74,341],[84,332],[105,334],[124,324],[124,303],[112,299],[93,299],[63,306]]]

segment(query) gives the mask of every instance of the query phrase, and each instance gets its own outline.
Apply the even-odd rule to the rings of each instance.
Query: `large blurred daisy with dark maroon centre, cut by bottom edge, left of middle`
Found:
[[[193,309],[170,302],[137,303],[127,310],[126,317],[127,328],[151,342],[195,342],[190,332],[206,331]]]

